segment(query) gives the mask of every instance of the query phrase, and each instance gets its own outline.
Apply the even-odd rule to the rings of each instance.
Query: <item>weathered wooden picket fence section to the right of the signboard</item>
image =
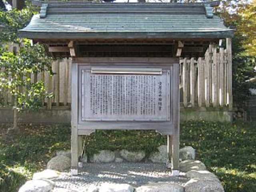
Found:
[[[180,102],[185,108],[232,108],[232,63],[227,50],[210,46],[205,58],[180,59]]]

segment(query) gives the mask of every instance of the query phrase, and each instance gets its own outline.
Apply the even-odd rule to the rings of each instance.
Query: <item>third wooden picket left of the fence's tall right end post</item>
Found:
[[[210,106],[210,58],[209,51],[205,54],[204,60],[204,96],[205,106]]]

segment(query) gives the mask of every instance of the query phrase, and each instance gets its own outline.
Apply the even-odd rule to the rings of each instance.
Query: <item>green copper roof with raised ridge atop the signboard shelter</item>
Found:
[[[226,38],[233,35],[204,4],[55,3],[20,36],[71,38]]]

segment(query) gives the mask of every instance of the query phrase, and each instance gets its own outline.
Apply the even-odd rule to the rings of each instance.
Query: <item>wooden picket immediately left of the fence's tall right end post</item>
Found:
[[[224,48],[220,48],[219,54],[219,105],[224,106]]]

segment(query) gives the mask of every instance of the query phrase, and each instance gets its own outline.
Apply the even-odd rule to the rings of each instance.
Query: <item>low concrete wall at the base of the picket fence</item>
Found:
[[[208,121],[232,121],[232,111],[220,108],[181,108],[180,120],[208,120]],[[42,109],[38,112],[23,112],[19,114],[20,122],[34,123],[70,123],[70,107],[59,106],[52,110]],[[12,122],[12,108],[0,108],[0,122]]]

